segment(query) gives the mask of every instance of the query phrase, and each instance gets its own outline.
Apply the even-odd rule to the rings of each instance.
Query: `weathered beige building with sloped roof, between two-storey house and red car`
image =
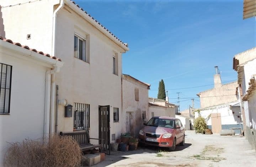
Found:
[[[143,122],[148,120],[148,90],[150,85],[130,75],[122,75],[122,132],[137,137]]]

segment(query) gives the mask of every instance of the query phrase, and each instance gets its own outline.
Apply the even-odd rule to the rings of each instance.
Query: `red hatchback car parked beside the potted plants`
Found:
[[[185,145],[185,130],[179,119],[165,116],[152,117],[139,131],[139,142],[168,147],[174,151],[177,144]]]

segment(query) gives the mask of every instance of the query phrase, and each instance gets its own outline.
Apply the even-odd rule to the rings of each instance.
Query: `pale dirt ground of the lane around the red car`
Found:
[[[96,167],[255,167],[256,152],[245,137],[185,132],[185,146],[169,152],[157,147],[112,152]]]

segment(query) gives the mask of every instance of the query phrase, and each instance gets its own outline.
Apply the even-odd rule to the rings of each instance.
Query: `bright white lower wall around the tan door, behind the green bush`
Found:
[[[204,117],[207,121],[207,125],[212,125],[211,118],[208,116],[211,113],[220,113],[221,115],[221,123],[222,125],[234,125],[241,123],[241,116],[240,116],[240,108],[233,108],[232,110],[230,109],[230,105],[234,105],[238,102],[234,103],[228,103],[228,104],[223,104],[223,105],[218,105],[210,108],[204,108],[200,109],[200,114],[202,117]],[[234,114],[233,114],[234,112]],[[194,112],[195,118],[198,117],[198,112]],[[238,118],[238,116],[240,116]]]

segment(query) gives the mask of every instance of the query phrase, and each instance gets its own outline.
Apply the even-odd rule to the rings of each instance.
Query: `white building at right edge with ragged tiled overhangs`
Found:
[[[256,149],[256,47],[236,54],[233,69],[238,72],[238,94],[245,136]]]

